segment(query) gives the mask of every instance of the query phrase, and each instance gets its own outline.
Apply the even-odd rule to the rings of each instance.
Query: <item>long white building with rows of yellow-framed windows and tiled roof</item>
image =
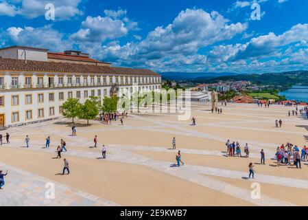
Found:
[[[147,69],[0,58],[0,129],[59,118],[68,98],[84,102],[98,96],[103,101],[112,85],[120,93],[160,91],[161,75]]]

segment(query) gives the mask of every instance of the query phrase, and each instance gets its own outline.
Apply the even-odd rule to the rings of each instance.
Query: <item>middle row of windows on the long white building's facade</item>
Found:
[[[95,90],[91,90],[91,96],[95,96]],[[101,89],[97,90],[97,96],[102,96]],[[104,89],[104,96],[107,96],[107,89]],[[73,91],[67,92],[68,98],[73,98]],[[88,91],[84,91],[84,98],[88,98]],[[76,98],[81,98],[81,91],[76,91]],[[49,102],[54,102],[55,100],[55,94],[49,93],[48,94],[48,100]],[[59,100],[64,100],[64,92],[59,92]],[[44,94],[38,94],[38,103],[44,102]],[[32,94],[26,94],[25,95],[25,104],[32,104]],[[12,96],[12,105],[19,105],[19,95],[13,95]],[[0,106],[4,106],[4,96],[0,96]]]

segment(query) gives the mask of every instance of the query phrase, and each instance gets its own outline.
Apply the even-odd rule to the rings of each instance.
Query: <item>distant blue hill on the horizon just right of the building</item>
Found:
[[[215,73],[215,72],[162,72],[163,80],[202,80],[217,78],[220,76],[235,76],[235,73]]]

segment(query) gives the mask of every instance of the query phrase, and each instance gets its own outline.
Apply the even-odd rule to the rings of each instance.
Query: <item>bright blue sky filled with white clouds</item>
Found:
[[[159,73],[283,72],[308,69],[307,11],[307,0],[0,0],[0,44]]]

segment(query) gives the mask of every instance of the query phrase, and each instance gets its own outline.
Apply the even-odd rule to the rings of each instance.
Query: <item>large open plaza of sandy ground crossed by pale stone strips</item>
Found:
[[[123,126],[78,120],[76,137],[66,119],[1,131],[10,133],[11,143],[0,146],[0,169],[9,171],[0,206],[307,206],[308,162],[296,169],[276,167],[274,159],[281,144],[308,145],[307,119],[289,117],[294,107],[228,104],[220,115],[209,109],[193,104],[197,126],[177,115],[130,114]],[[276,119],[283,120],[282,128],[275,128]],[[173,137],[184,166],[175,166]],[[70,175],[59,175],[63,160],[55,157],[61,139],[67,142],[62,159],[68,159]],[[243,155],[248,143],[250,158],[228,157],[228,139],[241,144]],[[102,144],[107,159],[101,158]],[[259,164],[262,148],[265,165]],[[247,179],[250,162],[253,180]],[[55,184],[54,199],[45,197],[48,182]],[[251,196],[254,182],[261,186],[260,199]]]

